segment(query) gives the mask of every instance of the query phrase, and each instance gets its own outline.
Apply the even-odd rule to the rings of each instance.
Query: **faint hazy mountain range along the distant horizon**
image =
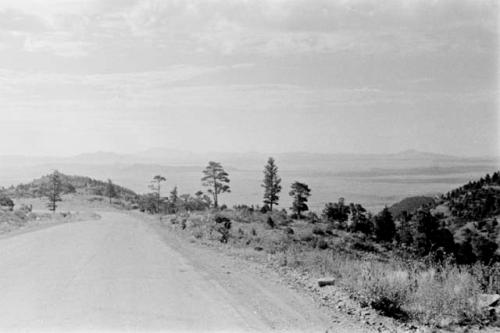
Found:
[[[152,148],[134,154],[117,154],[113,152],[99,151],[95,153],[85,153],[69,157],[28,157],[23,155],[5,155],[0,156],[0,165],[23,166],[34,164],[158,164],[169,166],[203,166],[208,161],[215,160],[236,168],[253,168],[255,166],[262,166],[269,156],[273,156],[278,162],[282,162],[283,164],[296,165],[298,167],[307,166],[310,163],[317,166],[327,166],[330,163],[337,164],[342,161],[418,162],[418,165],[414,165],[414,167],[439,167],[441,166],[440,163],[449,164],[453,162],[467,164],[475,164],[480,162],[498,162],[498,158],[466,158],[452,155],[421,152],[417,150],[406,150],[396,154],[321,154],[307,152],[265,154],[257,152],[194,153],[175,149]]]

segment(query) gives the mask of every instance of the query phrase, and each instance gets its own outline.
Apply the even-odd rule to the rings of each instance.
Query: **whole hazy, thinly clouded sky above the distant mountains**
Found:
[[[1,0],[0,154],[491,155],[497,0]]]

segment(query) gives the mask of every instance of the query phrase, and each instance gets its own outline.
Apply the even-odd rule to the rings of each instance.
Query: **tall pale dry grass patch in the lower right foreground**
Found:
[[[477,305],[477,296],[485,290],[468,267],[359,258],[335,249],[321,252],[292,247],[283,256],[280,262],[295,269],[335,276],[338,285],[362,305],[387,316],[430,325],[485,319]]]

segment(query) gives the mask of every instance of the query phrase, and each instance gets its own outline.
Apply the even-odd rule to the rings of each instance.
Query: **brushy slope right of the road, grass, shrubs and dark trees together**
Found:
[[[291,216],[238,205],[214,217],[208,211],[190,215],[185,232],[262,253],[262,260],[300,274],[334,276],[359,304],[398,320],[431,326],[494,322],[478,297],[500,293],[496,219],[455,227],[460,233],[454,235],[453,225],[427,200],[394,219],[388,207],[372,217],[343,199],[327,204],[321,218],[306,217],[302,204],[310,190],[300,183],[293,188],[301,198]],[[223,232],[217,227],[222,220],[231,223]]]

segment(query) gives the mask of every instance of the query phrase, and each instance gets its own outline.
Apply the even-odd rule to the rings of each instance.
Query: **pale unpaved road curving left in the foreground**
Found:
[[[221,268],[216,254],[181,248],[150,222],[102,216],[0,240],[0,330],[325,332],[330,326],[310,300],[277,282],[242,278],[230,262]]]

